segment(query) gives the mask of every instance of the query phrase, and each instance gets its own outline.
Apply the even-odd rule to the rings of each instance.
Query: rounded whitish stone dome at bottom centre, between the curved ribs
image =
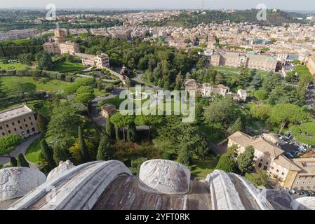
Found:
[[[140,167],[139,188],[150,193],[184,195],[189,183],[189,170],[178,162],[149,160]]]

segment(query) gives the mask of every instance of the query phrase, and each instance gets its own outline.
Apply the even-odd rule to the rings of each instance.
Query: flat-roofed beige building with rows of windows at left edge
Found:
[[[10,134],[19,134],[26,139],[39,133],[34,111],[25,105],[0,112],[0,138]]]

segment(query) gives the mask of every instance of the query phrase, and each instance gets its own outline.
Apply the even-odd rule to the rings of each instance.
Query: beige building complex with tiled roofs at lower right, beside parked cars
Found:
[[[255,168],[262,169],[279,181],[283,188],[315,189],[315,158],[290,160],[276,144],[272,134],[250,137],[235,132],[229,137],[228,147],[238,146],[237,153],[243,153],[246,146],[255,148]]]

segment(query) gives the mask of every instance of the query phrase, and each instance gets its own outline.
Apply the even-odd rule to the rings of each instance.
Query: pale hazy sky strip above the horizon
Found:
[[[314,10],[314,0],[204,0],[205,8],[267,8]],[[202,0],[0,0],[0,8],[46,8],[54,3],[58,8],[201,8]]]

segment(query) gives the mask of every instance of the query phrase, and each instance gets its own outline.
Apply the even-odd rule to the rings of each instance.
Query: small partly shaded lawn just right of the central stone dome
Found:
[[[194,158],[192,160],[191,174],[196,177],[206,178],[208,174],[215,170],[218,160],[219,158],[216,155],[209,155],[208,158],[205,158],[204,160]]]

